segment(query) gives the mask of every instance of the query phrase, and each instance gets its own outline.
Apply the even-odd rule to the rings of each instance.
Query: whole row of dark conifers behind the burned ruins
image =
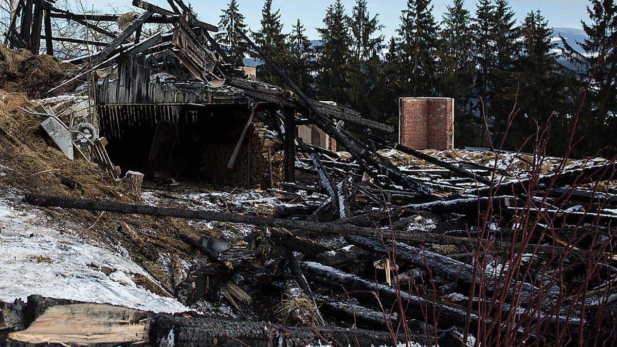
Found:
[[[508,0],[475,1],[468,10],[465,0],[452,0],[437,18],[431,0],[407,0],[396,35],[386,38],[367,0],[350,9],[335,0],[317,28],[320,44],[313,45],[300,19],[283,27],[272,0],[265,0],[254,30],[230,0],[217,40],[241,65],[252,53],[233,28],[245,30],[309,96],[379,122],[397,122],[402,96],[454,98],[457,148],[499,146],[505,137],[505,149],[531,150],[540,127],[548,129],[549,154],[562,155],[579,112],[574,154],[617,153],[617,2],[589,0],[582,20],[588,38],[578,52],[565,38],[558,49],[539,10],[519,21]],[[284,85],[267,65],[257,73],[263,82]]]

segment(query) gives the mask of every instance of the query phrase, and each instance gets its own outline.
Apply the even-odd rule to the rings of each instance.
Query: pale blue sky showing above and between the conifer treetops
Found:
[[[148,0],[153,4],[168,8],[167,0]],[[193,4],[194,9],[204,22],[218,24],[221,9],[230,0],[184,0]],[[129,10],[126,4],[128,0],[86,0],[87,7],[106,12],[106,6],[114,6],[119,10]],[[297,19],[304,24],[306,34],[311,40],[319,38],[316,27],[321,27],[323,17],[329,4],[334,0],[273,0],[273,8],[281,9],[281,20],[285,31],[291,31],[292,25]],[[351,12],[355,0],[343,0],[348,13]],[[238,0],[240,10],[246,17],[246,23],[253,30],[259,28],[263,0]],[[441,22],[445,7],[452,0],[433,0],[434,15]],[[386,38],[395,34],[399,26],[400,11],[405,8],[406,0],[368,0],[371,14],[379,14],[381,23],[386,26],[383,33]],[[475,9],[475,0],[466,0],[468,9]],[[541,10],[549,20],[551,27],[555,28],[581,28],[581,19],[587,19],[586,6],[588,0],[510,0],[510,5],[515,10],[519,20],[531,10]]]

